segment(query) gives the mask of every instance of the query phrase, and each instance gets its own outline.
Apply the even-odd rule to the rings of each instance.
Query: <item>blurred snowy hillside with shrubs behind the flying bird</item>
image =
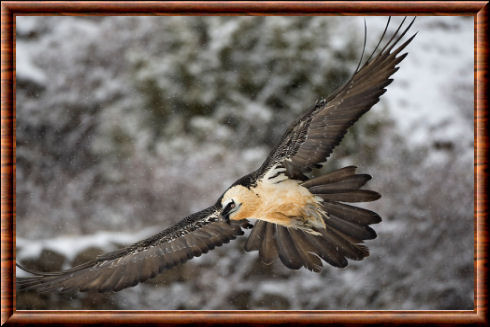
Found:
[[[43,271],[214,203],[350,76],[364,31],[360,17],[16,21],[17,261]],[[386,21],[367,18],[368,53]],[[383,196],[368,258],[291,271],[242,237],[118,293],[21,292],[17,308],[473,309],[473,18],[416,31],[327,167],[357,165]]]

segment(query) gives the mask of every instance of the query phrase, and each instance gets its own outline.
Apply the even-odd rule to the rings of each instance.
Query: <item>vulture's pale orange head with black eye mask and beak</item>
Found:
[[[247,187],[234,185],[221,198],[221,215],[226,220],[251,218],[250,215],[257,207],[257,200],[255,193]]]

